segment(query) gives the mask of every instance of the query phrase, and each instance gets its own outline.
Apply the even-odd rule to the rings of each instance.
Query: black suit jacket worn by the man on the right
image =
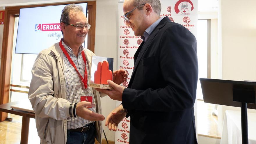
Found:
[[[134,55],[122,95],[130,144],[197,143],[193,105],[198,81],[195,36],[165,17]]]

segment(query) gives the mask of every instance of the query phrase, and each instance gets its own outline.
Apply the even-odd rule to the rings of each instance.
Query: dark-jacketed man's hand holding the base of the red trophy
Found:
[[[95,90],[108,95],[113,100],[122,101],[122,95],[125,87],[120,86],[111,80],[108,80],[107,82],[110,86],[113,87],[113,90],[106,90],[106,89],[99,89],[99,88],[95,88]]]

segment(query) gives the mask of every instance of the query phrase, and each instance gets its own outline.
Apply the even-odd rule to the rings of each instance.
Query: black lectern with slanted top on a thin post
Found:
[[[247,107],[256,109],[256,83],[200,78],[204,102],[241,107],[242,144],[248,144]]]

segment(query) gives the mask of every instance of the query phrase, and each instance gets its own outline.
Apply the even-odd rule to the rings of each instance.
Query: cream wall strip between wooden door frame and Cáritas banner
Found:
[[[117,70],[118,61],[118,0],[97,0],[96,8],[96,31],[95,31],[95,54],[114,58],[113,70]],[[108,96],[101,99],[102,113],[105,118],[116,107],[116,101]],[[105,124],[105,120],[103,121]],[[115,141],[115,132],[106,131],[107,139]]]

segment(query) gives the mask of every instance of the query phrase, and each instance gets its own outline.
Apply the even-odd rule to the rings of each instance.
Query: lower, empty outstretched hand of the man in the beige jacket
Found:
[[[90,111],[87,107],[94,107],[95,104],[90,102],[78,102],[76,106],[76,114],[77,116],[90,121],[98,121],[98,120],[104,120],[104,116],[98,113],[95,113],[93,111]]]

